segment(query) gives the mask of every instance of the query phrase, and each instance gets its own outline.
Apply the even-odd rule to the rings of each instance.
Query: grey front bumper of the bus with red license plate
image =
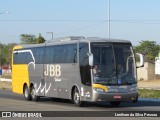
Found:
[[[137,91],[128,93],[104,93],[93,91],[91,101],[134,101],[137,97]]]

